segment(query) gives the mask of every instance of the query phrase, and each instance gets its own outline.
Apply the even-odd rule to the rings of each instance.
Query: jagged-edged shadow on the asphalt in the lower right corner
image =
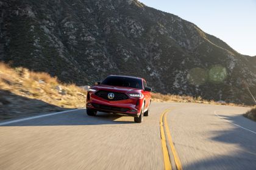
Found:
[[[233,117],[226,115],[219,116],[231,123],[238,124],[239,126],[246,127],[247,129],[255,130],[256,123],[254,121],[247,120],[241,115]],[[223,123],[228,123],[224,120]],[[214,131],[213,134],[215,136],[210,138],[210,140],[223,143],[222,149],[223,151],[227,151],[228,154],[218,154],[218,152],[209,148],[207,149],[208,154],[214,154],[215,157],[196,161],[190,165],[186,165],[184,169],[256,169],[256,134],[235,125],[225,131]],[[232,147],[235,146],[235,152],[226,148],[226,143],[232,144]]]

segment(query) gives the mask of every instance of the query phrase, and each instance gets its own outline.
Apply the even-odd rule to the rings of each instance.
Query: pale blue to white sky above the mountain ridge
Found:
[[[256,0],[138,0],[193,22],[243,55],[256,55]]]

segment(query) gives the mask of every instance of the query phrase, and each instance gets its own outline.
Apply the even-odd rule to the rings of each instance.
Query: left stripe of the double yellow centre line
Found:
[[[169,153],[166,145],[166,138],[165,138],[165,131],[163,130],[163,115],[169,110],[165,110],[160,117],[160,135],[161,135],[161,142],[162,142],[162,149],[163,149],[163,161],[165,163],[165,170],[171,170],[171,161],[169,159]]]

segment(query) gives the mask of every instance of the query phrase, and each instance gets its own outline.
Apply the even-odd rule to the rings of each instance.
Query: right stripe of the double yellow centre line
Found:
[[[172,138],[171,138],[171,133],[169,131],[169,126],[168,126],[168,123],[167,123],[167,118],[166,118],[167,114],[166,113],[164,115],[164,123],[165,123],[165,131],[166,131],[167,138],[168,138],[168,141],[169,141],[169,146],[171,146],[171,151],[172,151],[172,155],[174,157],[174,161],[175,161],[177,170],[182,170],[182,163],[180,161],[179,155],[176,152],[176,149],[174,147],[174,144],[173,144],[173,141],[172,141]]]

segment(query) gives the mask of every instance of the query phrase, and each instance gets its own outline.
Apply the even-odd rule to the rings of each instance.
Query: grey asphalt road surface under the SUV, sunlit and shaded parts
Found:
[[[84,109],[2,125],[0,169],[164,169],[159,121],[168,108],[183,169],[256,169],[248,108],[182,103],[152,103],[143,123]]]

